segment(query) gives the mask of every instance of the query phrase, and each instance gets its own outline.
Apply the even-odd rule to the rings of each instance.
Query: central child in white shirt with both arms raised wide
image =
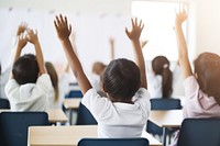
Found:
[[[81,102],[98,122],[98,137],[140,137],[151,109],[145,65],[139,41],[143,30],[142,22],[132,20],[132,31],[125,30],[134,46],[136,65],[128,59],[116,59],[103,72],[102,87],[108,98],[100,97],[87,79],[69,42],[72,26],[68,26],[66,16],[57,15],[54,24],[84,93]]]

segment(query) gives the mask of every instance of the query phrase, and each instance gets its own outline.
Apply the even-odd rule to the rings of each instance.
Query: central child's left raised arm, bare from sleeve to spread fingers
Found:
[[[54,20],[54,25],[57,32],[57,36],[62,43],[66,57],[72,67],[72,70],[75,74],[81,92],[85,94],[91,88],[91,85],[82,70],[81,64],[76,53],[74,52],[72,43],[69,41],[72,26],[68,26],[67,18],[63,16],[62,14],[56,15],[56,19]]]

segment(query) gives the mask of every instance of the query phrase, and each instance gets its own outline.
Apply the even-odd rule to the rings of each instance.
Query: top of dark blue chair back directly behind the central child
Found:
[[[77,146],[148,146],[146,138],[82,138]]]

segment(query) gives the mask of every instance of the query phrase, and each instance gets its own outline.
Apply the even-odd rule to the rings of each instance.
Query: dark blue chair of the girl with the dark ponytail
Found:
[[[151,110],[176,110],[182,109],[180,100],[179,99],[172,99],[172,98],[158,98],[158,99],[151,99]],[[147,121],[146,125],[147,133],[153,135],[163,135],[163,128],[157,126],[156,124]],[[166,128],[166,134],[172,135],[174,131]],[[170,137],[170,136],[169,136]]]

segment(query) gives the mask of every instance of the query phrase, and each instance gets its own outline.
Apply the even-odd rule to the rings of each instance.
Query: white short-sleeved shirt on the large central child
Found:
[[[140,88],[132,101],[134,104],[111,102],[90,89],[81,103],[98,122],[98,137],[141,137],[151,110],[148,91]]]

